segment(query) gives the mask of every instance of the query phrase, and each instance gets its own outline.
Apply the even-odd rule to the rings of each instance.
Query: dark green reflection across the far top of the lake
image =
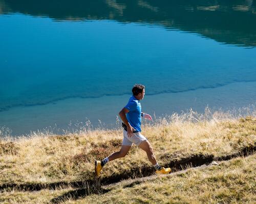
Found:
[[[1,0],[0,12],[47,16],[53,20],[117,20],[161,24],[199,33],[218,42],[256,45],[256,4],[238,1],[49,1]]]

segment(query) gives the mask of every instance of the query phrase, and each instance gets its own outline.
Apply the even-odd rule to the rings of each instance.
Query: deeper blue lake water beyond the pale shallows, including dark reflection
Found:
[[[0,8],[0,111],[121,95],[134,83],[152,95],[256,80],[254,49],[202,40],[254,47],[254,1],[0,0]]]

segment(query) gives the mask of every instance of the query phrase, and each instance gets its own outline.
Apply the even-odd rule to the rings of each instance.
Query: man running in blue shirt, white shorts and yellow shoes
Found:
[[[143,149],[148,160],[156,169],[156,173],[166,174],[170,172],[170,168],[161,167],[156,160],[153,148],[148,140],[140,133],[141,117],[152,120],[151,115],[141,112],[140,100],[145,95],[145,86],[136,84],[132,89],[133,95],[130,97],[127,105],[119,112],[119,116],[123,121],[123,142],[120,151],[114,152],[102,161],[95,161],[95,173],[99,176],[102,167],[115,159],[125,157],[133,143]]]

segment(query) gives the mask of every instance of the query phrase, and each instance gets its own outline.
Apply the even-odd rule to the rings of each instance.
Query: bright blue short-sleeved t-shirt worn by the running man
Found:
[[[141,125],[141,105],[140,101],[135,98],[134,96],[131,96],[127,105],[124,107],[127,110],[129,110],[128,113],[126,113],[126,118],[128,122],[131,124],[131,126],[136,130],[141,132],[140,125]]]

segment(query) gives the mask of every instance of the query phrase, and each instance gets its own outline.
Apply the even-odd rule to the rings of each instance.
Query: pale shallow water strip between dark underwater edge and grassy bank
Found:
[[[30,131],[43,131],[46,127],[53,131],[68,128],[72,131],[86,123],[94,128],[114,129],[118,127],[118,112],[125,106],[130,95],[102,96],[100,99],[69,98],[47,105],[16,107],[0,112],[0,126],[11,129],[14,137],[30,134]],[[255,101],[256,82],[238,82],[218,88],[146,95],[141,104],[144,112],[158,118],[189,109],[203,113],[205,107],[222,111],[238,110],[255,106]]]

